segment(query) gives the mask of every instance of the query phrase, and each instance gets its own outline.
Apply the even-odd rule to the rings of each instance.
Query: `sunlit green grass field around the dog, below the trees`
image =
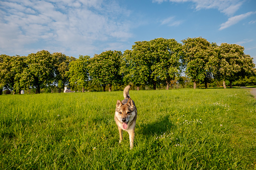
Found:
[[[114,121],[122,92],[0,96],[0,169],[256,169],[248,89],[130,91],[134,148]]]

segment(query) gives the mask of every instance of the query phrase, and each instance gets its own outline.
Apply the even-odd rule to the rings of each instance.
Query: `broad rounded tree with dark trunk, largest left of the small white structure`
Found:
[[[36,94],[40,93],[40,88],[51,85],[54,82],[54,64],[52,55],[45,50],[36,54],[29,54],[26,63],[27,67],[22,72],[20,85],[26,89],[35,87]]]

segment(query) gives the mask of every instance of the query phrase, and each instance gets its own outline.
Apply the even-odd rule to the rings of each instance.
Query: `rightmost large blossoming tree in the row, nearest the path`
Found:
[[[218,50],[219,66],[216,74],[219,80],[223,80],[224,88],[226,80],[232,88],[233,81],[255,74],[255,64],[249,55],[244,54],[242,46],[222,43]]]

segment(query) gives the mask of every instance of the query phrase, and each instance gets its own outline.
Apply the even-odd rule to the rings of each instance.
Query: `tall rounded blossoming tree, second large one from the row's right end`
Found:
[[[186,66],[185,73],[196,83],[204,82],[205,88],[212,78],[213,63],[217,60],[217,53],[214,51],[214,45],[211,45],[206,39],[188,38],[182,40],[184,57],[183,64]]]

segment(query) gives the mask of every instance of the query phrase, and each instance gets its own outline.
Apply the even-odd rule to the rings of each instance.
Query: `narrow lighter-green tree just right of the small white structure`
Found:
[[[72,87],[81,86],[82,92],[84,92],[84,86],[88,84],[89,81],[89,64],[90,56],[79,55],[77,60],[73,60],[69,63],[69,71],[67,76],[69,78],[69,84]]]

